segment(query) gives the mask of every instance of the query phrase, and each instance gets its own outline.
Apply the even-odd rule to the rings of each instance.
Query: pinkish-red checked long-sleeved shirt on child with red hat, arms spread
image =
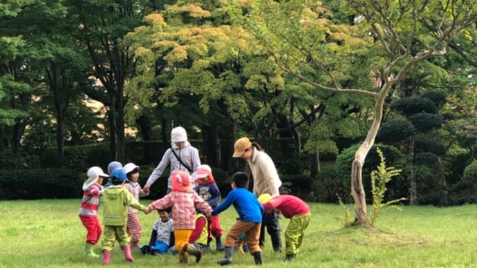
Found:
[[[212,208],[195,191],[172,191],[163,198],[160,198],[147,206],[149,209],[165,209],[172,207],[172,218],[174,219],[174,230],[196,228],[196,208],[202,209],[205,213],[212,211]]]

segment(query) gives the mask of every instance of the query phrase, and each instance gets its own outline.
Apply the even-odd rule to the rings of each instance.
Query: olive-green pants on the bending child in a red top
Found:
[[[310,224],[310,214],[293,216],[285,230],[286,254],[296,254],[303,241],[304,231]]]

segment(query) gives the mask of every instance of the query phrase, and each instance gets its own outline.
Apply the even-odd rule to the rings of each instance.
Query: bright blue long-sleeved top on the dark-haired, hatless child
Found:
[[[238,213],[238,220],[262,222],[262,214],[265,210],[255,195],[245,188],[236,188],[230,191],[227,198],[212,211],[212,216],[225,211],[232,204]]]

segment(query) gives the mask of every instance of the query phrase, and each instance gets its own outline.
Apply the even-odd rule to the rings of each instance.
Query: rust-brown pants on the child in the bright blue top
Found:
[[[235,241],[245,233],[245,240],[250,254],[261,251],[259,247],[260,227],[261,223],[237,220],[227,233],[225,247],[234,247]]]

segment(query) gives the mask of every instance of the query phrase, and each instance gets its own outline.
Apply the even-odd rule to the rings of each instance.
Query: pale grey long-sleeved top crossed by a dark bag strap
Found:
[[[172,153],[172,150],[176,153]],[[192,173],[183,165],[180,164],[180,161],[178,158],[187,166],[189,166],[189,169],[192,169]],[[194,178],[198,166],[200,166],[200,157],[198,154],[198,150],[189,144],[189,142],[186,142],[185,146],[181,149],[178,149],[176,147],[172,147],[167,149],[167,151],[162,155],[162,160],[160,160],[158,166],[156,166],[156,169],[154,169],[149,175],[149,178],[147,179],[147,184],[152,185],[160,175],[164,172],[164,170],[167,168],[167,166],[171,167],[171,174],[176,170],[176,169],[181,169],[183,171],[187,171],[191,174],[191,177]],[[167,187],[171,188],[171,175],[169,175],[169,178],[167,179]]]

